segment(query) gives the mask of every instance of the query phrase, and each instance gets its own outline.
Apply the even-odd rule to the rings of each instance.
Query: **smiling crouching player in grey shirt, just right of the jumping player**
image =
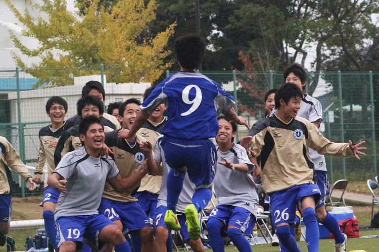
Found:
[[[239,251],[252,251],[243,234],[250,235],[256,223],[258,194],[250,174],[255,166],[245,148],[233,143],[237,125],[224,116],[218,117],[218,124],[218,164],[213,186],[219,204],[207,222],[209,240],[213,251],[224,251],[221,233],[226,232]]]

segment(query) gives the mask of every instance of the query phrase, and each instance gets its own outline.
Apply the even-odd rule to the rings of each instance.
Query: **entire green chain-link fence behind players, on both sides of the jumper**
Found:
[[[167,76],[173,72],[167,71]],[[239,114],[249,124],[265,116],[263,97],[267,90],[284,83],[281,73],[245,73],[235,71],[204,72],[230,92],[238,102]],[[103,67],[81,69],[6,69],[0,70],[0,135],[7,138],[19,152],[22,160],[35,167],[39,149],[39,129],[50,123],[45,103],[54,95],[68,102],[66,118],[76,113],[76,102],[81,89],[89,80],[103,83],[105,106],[110,102],[136,97],[141,99],[150,83],[119,83],[119,68]],[[379,102],[379,73],[328,72],[308,73],[306,91],[317,98],[323,108],[320,131],[334,142],[366,141],[367,156],[326,156],[329,178],[363,180],[377,175],[377,142],[379,113],[374,108]],[[317,87],[316,87],[317,86]],[[239,128],[238,138],[247,135]],[[32,194],[14,174],[14,195]],[[36,192],[37,194],[41,191]],[[33,194],[35,194],[33,192]]]

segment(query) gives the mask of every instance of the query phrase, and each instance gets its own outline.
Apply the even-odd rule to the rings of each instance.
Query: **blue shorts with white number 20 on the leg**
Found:
[[[151,227],[151,222],[138,202],[121,202],[102,198],[99,213],[111,221],[121,220],[123,233]]]

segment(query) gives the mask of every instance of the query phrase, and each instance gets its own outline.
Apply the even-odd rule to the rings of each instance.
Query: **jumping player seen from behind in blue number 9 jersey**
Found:
[[[192,203],[185,209],[188,233],[198,239],[201,233],[198,212],[211,199],[210,185],[216,168],[217,151],[209,138],[218,132],[217,109],[238,124],[246,120],[235,113],[233,97],[208,77],[196,73],[201,64],[205,42],[197,35],[186,35],[176,39],[174,53],[180,72],[166,78],[141,105],[130,132],[120,131],[122,137],[135,134],[149,115],[162,103],[167,106],[167,122],[162,131],[162,148],[167,164],[173,169],[167,177],[166,226],[180,229],[176,216],[176,204],[182,190],[185,173],[197,190]]]

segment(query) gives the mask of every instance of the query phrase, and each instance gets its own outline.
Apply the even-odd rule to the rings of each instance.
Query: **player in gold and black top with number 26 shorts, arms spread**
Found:
[[[275,93],[277,112],[253,128],[251,148],[260,150],[262,185],[271,198],[270,213],[280,242],[290,251],[300,251],[290,225],[294,224],[295,206],[301,203],[308,251],[313,252],[319,244],[314,208],[321,194],[313,181],[308,147],[320,154],[354,155],[358,159],[366,148],[359,147],[364,142],[332,143],[324,138],[311,122],[297,116],[302,97],[296,84],[281,86]]]

